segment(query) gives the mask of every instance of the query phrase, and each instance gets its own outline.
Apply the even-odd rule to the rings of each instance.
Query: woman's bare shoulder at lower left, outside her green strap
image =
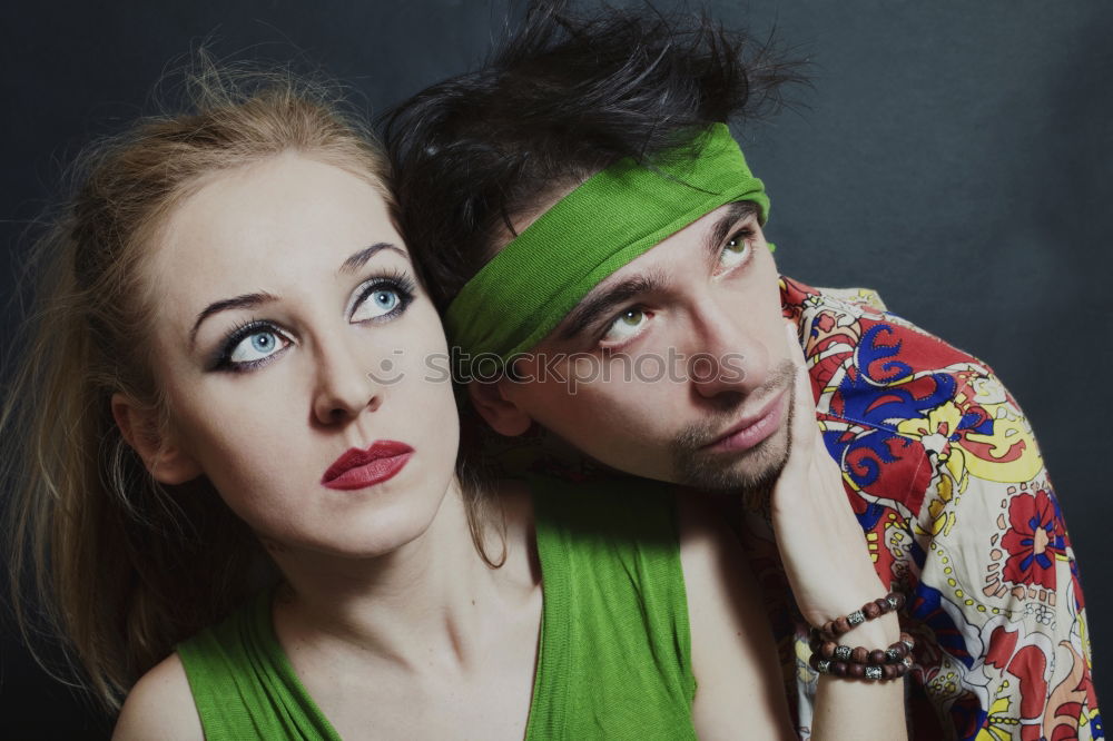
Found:
[[[112,740],[130,739],[204,741],[201,721],[178,654],[170,654],[144,674],[128,693]]]

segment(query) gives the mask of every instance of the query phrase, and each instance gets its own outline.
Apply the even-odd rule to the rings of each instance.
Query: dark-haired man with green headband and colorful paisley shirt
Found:
[[[910,725],[1101,738],[1073,552],[1031,426],[991,368],[870,292],[778,276],[768,199],[723,121],[787,68],[741,48],[708,23],[541,10],[486,68],[395,113],[407,241],[452,342],[473,369],[503,370],[471,384],[476,409],[630,474],[771,494],[771,523],[748,512],[741,534],[806,731],[823,651],[808,623],[836,600],[801,594],[799,572],[827,569],[838,592],[849,569],[786,555],[801,533],[823,540],[831,483],[788,504],[806,363],[835,485],[881,584],[907,597]],[[846,659],[843,673],[869,664]]]

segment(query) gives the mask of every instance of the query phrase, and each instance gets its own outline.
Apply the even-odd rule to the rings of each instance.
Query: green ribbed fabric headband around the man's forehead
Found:
[[[540,343],[597,285],[716,208],[769,198],[725,124],[651,167],[623,159],[545,211],[449,306],[449,338],[472,359],[505,363]]]

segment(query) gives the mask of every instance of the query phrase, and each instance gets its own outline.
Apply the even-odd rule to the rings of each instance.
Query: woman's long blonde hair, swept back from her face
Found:
[[[385,158],[333,87],[204,55],[186,78],[184,110],[79,159],[79,187],[29,264],[37,305],[0,417],[20,630],[30,642],[41,619],[65,635],[109,709],[246,596],[259,551],[204,477],[156,483],[114,421],[116,392],[166,418],[147,342],[151,234],[203,177],[287,151],[352,171],[391,202]]]

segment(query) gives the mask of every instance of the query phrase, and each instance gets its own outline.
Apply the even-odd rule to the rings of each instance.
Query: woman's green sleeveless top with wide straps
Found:
[[[543,607],[528,741],[696,738],[674,502],[622,488],[531,480]],[[178,645],[205,738],[339,741],[278,644],[272,596]]]

